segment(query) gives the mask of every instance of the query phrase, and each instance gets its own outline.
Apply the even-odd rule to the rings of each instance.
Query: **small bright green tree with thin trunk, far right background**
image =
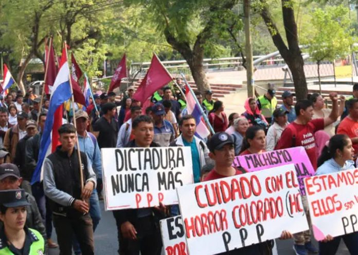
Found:
[[[319,92],[321,81],[319,65],[324,60],[333,62],[336,57],[349,54],[353,44],[348,10],[343,6],[317,8],[312,13],[313,36],[305,40],[311,58],[317,63]]]

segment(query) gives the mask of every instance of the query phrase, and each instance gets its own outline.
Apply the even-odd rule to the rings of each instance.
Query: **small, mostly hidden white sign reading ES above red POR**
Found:
[[[161,220],[163,247],[166,255],[187,255],[182,216]]]

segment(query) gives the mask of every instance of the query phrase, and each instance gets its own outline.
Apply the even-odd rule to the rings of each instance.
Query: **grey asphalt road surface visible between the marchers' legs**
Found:
[[[101,201],[102,209],[102,220],[100,221],[96,232],[95,232],[95,254],[106,254],[106,255],[116,255],[118,249],[117,242],[117,228],[116,223],[113,218],[113,214],[110,211],[104,211],[103,201]],[[53,231],[52,239],[56,240],[56,232]],[[292,250],[292,240],[278,241],[278,254],[279,255],[294,255]],[[58,255],[58,249],[51,249],[49,255]],[[341,242],[341,246],[336,255],[347,255],[348,250]]]

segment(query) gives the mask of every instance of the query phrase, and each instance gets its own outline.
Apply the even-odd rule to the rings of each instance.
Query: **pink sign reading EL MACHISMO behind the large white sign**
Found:
[[[267,151],[261,154],[236,156],[233,166],[243,167],[248,172],[258,171],[276,166],[295,164],[299,188],[305,195],[303,179],[314,175],[314,169],[303,147]]]

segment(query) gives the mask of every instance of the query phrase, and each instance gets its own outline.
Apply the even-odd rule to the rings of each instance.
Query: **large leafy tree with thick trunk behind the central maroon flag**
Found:
[[[227,21],[234,16],[232,8],[238,0],[125,0],[130,5],[145,6],[159,34],[180,52],[189,65],[199,90],[210,88],[203,66],[204,55],[213,42],[226,31]],[[224,29],[223,29],[224,28]],[[218,33],[220,32],[220,33]]]

